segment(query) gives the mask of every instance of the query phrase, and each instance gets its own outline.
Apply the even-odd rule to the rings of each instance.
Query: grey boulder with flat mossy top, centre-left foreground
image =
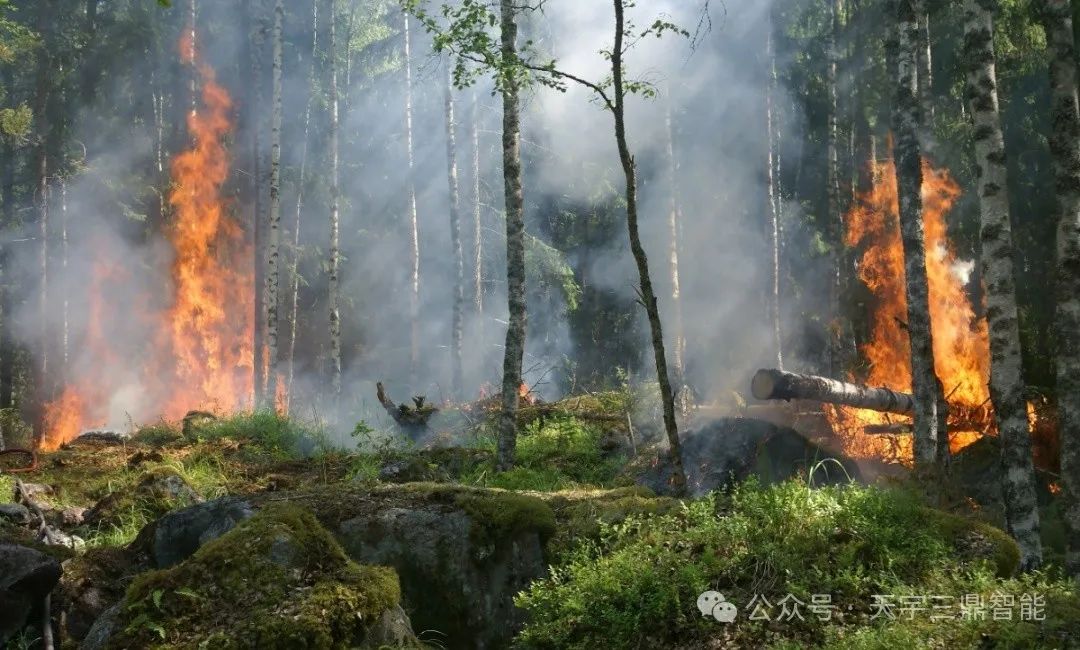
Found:
[[[524,623],[513,596],[546,574],[555,530],[542,500],[441,484],[327,488],[310,495],[350,557],[390,565],[417,628],[447,647],[501,647]]]

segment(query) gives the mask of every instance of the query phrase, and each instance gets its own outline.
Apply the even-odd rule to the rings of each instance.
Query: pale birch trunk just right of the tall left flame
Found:
[[[281,110],[283,0],[273,8],[273,91],[270,117],[270,231],[267,236],[267,282],[262,302],[267,330],[267,391],[262,408],[274,409],[278,398],[278,257],[281,247]]]

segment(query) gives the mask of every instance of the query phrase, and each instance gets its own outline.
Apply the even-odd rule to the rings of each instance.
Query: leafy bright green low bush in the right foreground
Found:
[[[978,543],[969,544],[972,536]],[[878,627],[869,621],[875,594],[959,597],[1018,590],[1022,583],[997,577],[1001,557],[1012,551],[1014,544],[1004,536],[987,533],[982,524],[937,515],[908,492],[748,483],[728,497],[690,502],[677,514],[629,517],[604,526],[598,542],[566,554],[550,578],[518,595],[516,602],[528,611],[529,622],[517,641],[531,648],[638,648],[692,645],[723,633],[725,647],[795,642],[839,648],[849,647],[843,635],[858,634],[867,639],[864,647],[887,647],[869,640],[877,634],[869,628]],[[1045,584],[1053,586],[1048,593],[1059,596],[1048,598],[1048,618],[1070,620],[1069,612],[1080,602],[1075,591],[1063,583]],[[739,607],[755,595],[777,604],[791,594],[810,604],[814,595],[827,594],[837,617],[821,621],[804,607],[804,620],[778,624],[750,621],[743,611],[734,624],[721,626],[697,609],[698,595],[707,590]],[[880,633],[891,641],[910,635],[936,638],[927,636],[935,634],[932,625],[894,623],[896,631]],[[1025,646],[1023,639],[1041,638],[1041,632],[1015,625],[1010,638],[1020,645],[1000,647],[1040,647]],[[981,629],[990,628],[983,622]],[[930,647],[922,641],[908,645]]]

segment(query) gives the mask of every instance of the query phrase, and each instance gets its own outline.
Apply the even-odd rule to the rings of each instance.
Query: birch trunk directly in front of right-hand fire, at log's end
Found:
[[[934,373],[933,335],[930,329],[915,57],[918,23],[915,19],[914,1],[895,0],[897,84],[892,110],[893,131],[896,134],[894,155],[900,193],[900,229],[904,245],[907,331],[915,395],[915,469],[923,475],[930,475],[944,469],[946,459],[941,457],[939,443],[947,438],[947,433],[942,425],[945,415],[941,412],[944,397],[941,382]],[[947,444],[947,439],[945,443]]]

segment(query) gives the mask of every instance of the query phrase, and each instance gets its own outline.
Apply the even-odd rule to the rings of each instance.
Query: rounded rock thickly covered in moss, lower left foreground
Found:
[[[351,561],[306,510],[273,503],[127,588],[110,648],[352,648],[397,607],[393,569]]]

